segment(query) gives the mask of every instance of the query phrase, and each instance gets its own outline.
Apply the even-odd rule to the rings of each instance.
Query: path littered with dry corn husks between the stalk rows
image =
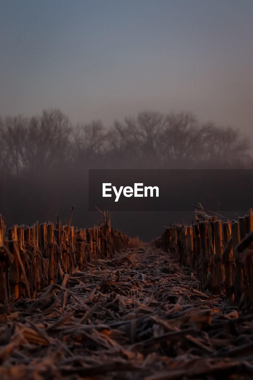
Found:
[[[252,316],[150,244],[0,311],[1,379],[253,378]]]

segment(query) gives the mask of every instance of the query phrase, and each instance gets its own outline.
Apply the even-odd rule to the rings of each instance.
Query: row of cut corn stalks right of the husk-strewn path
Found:
[[[199,214],[197,212],[197,214]],[[197,218],[196,218],[197,219]],[[253,212],[232,222],[216,216],[167,228],[156,244],[189,267],[201,290],[225,292],[244,309],[253,306]]]

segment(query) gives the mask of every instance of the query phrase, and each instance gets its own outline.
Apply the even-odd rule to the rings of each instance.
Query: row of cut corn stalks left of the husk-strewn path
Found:
[[[128,237],[104,224],[77,229],[56,223],[14,225],[6,231],[0,215],[0,302],[36,298],[38,291],[86,269],[90,260],[106,258],[128,245]]]

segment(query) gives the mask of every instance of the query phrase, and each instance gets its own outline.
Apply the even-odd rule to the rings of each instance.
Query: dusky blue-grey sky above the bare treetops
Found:
[[[252,0],[0,0],[0,116],[191,111],[253,136],[252,20]]]

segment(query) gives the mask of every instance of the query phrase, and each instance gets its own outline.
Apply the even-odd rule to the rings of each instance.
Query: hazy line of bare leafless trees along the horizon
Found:
[[[72,125],[60,110],[0,119],[0,172],[22,176],[63,167],[248,168],[251,145],[231,127],[190,112],[140,112],[105,128]]]

